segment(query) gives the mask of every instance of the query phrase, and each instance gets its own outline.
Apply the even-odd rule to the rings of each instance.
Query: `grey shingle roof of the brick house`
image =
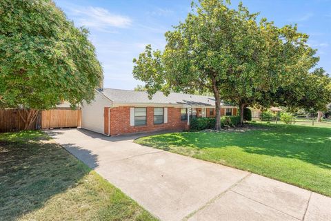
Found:
[[[214,106],[215,99],[211,96],[188,95],[182,93],[170,93],[165,96],[161,92],[153,95],[148,99],[148,93],[144,91],[121,90],[112,88],[103,88],[100,90],[103,95],[108,97],[112,102],[118,104],[183,104],[192,106]],[[223,104],[221,105],[230,105]]]

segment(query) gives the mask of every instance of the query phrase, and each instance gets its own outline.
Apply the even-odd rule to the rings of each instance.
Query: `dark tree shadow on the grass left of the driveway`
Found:
[[[0,220],[41,208],[89,172],[58,144],[0,140]]]

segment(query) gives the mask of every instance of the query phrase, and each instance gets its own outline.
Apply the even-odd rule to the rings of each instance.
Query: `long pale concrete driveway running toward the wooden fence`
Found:
[[[260,175],[106,137],[46,131],[161,220],[331,220],[331,198]]]

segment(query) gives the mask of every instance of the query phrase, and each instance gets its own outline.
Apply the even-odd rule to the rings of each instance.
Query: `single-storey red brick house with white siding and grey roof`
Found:
[[[187,130],[192,117],[214,117],[214,97],[103,88],[81,107],[82,128],[105,135]],[[237,106],[221,103],[221,116],[237,115]]]

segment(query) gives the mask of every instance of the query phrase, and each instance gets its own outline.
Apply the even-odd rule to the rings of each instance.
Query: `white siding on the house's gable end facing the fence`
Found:
[[[111,102],[100,93],[96,93],[91,104],[84,103],[81,108],[81,127],[97,133],[104,133],[103,113]]]

